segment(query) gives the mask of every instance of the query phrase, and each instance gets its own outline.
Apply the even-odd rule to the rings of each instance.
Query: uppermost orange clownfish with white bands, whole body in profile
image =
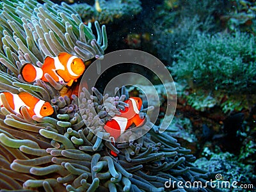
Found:
[[[74,81],[83,74],[85,65],[81,58],[61,52],[56,57],[47,56],[44,60],[44,65],[36,67],[31,63],[26,63],[20,69],[20,74],[24,81],[29,83],[42,79],[47,81],[45,74],[49,74],[56,82],[64,81],[68,86],[71,86]]]

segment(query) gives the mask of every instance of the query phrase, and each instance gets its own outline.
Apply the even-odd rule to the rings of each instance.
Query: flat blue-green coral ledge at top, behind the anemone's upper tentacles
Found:
[[[141,11],[141,3],[138,0],[95,0],[93,5],[75,3],[72,4],[72,8],[86,22],[98,20],[100,23],[106,24],[115,19],[124,20],[137,15]]]

